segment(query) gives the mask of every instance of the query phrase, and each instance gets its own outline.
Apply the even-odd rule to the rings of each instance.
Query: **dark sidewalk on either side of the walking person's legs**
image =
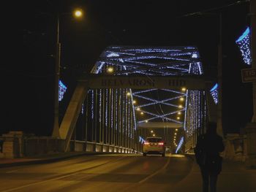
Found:
[[[199,166],[195,163],[190,174],[178,185],[173,186],[174,191],[202,191],[202,179]],[[255,192],[256,169],[246,169],[244,164],[237,161],[224,161],[222,172],[217,182],[218,192]]]

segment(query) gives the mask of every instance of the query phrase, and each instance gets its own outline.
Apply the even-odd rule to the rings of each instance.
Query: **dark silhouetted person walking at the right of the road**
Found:
[[[195,147],[195,158],[200,166],[203,178],[203,192],[216,192],[217,177],[222,171],[222,157],[219,155],[224,151],[222,137],[217,134],[217,123],[209,122],[206,134],[197,138]]]

